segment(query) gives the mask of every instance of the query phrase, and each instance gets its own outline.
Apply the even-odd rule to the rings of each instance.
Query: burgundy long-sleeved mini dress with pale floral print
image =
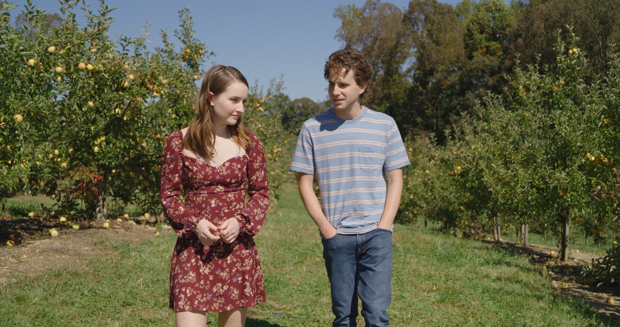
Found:
[[[161,158],[161,203],[177,243],[170,265],[170,308],[216,311],[254,307],[265,301],[259,255],[252,236],[259,232],[269,205],[265,152],[250,133],[247,154],[213,167],[183,154],[183,134],[168,136]],[[246,200],[246,182],[250,198]],[[185,193],[185,204],[179,197]],[[201,219],[215,225],[239,221],[232,243],[204,246],[195,233]]]

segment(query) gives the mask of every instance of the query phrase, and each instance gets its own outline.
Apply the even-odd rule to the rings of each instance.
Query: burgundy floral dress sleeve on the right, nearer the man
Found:
[[[256,235],[262,227],[269,207],[269,186],[265,150],[259,138],[251,133],[252,147],[247,161],[247,181],[250,199],[246,207],[236,216],[241,232]]]

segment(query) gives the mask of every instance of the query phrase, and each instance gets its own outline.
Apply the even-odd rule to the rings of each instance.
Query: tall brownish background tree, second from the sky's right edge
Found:
[[[436,0],[412,0],[405,13],[415,61],[405,104],[405,121],[416,129],[435,131],[453,123],[458,106],[456,82],[464,63],[463,35],[454,8]],[[407,124],[405,123],[405,124]]]

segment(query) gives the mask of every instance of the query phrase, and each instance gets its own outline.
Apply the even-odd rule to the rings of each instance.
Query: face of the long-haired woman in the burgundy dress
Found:
[[[234,125],[241,117],[247,100],[247,86],[242,82],[232,82],[226,90],[211,98],[216,124]]]

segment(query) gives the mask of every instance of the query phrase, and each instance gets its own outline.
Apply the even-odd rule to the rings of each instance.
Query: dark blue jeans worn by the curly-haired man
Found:
[[[356,327],[357,297],[366,327],[385,327],[392,302],[392,232],[323,238],[323,258],[332,286],[334,327]]]

